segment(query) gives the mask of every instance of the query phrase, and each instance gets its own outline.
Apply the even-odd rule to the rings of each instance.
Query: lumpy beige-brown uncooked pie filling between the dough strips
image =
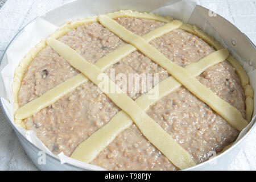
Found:
[[[164,24],[137,18],[116,20],[139,36]],[[83,24],[59,40],[75,49],[90,63],[95,63],[126,44],[97,22]],[[215,51],[202,39],[181,29],[152,40],[150,44],[181,67],[197,62]],[[106,69],[105,73],[110,75],[110,69],[114,69],[115,74],[126,75],[158,73],[159,81],[170,76],[139,51],[126,56]],[[19,105],[23,106],[42,96],[47,90],[78,73],[47,46],[38,53],[24,73],[18,96]],[[227,61],[208,68],[197,80],[236,107],[245,117],[245,94],[240,78]],[[141,95],[133,92],[127,94],[133,100]],[[51,106],[24,119],[24,122],[27,130],[34,130],[54,154],[64,152],[69,156],[83,140],[108,123],[119,110],[96,85],[88,81]],[[234,127],[183,86],[150,106],[147,114],[187,150],[197,164],[208,160],[213,151],[220,152],[238,135]],[[92,164],[114,170],[177,169],[148,142],[135,124],[119,134]]]

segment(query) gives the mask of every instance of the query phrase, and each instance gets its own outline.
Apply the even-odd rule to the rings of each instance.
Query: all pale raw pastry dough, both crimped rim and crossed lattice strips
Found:
[[[167,24],[165,24],[162,27],[156,28],[154,31],[149,32],[148,34],[142,37],[139,37],[136,35],[134,36],[133,33],[130,34],[129,32],[127,34],[127,30],[125,30],[124,32],[121,32],[119,36],[121,37],[124,36],[125,40],[127,42],[134,44],[134,46],[131,44],[123,46],[109,53],[109,55],[102,57],[102,59],[98,60],[95,65],[90,65],[90,67],[92,67],[93,70],[96,71],[96,72],[90,71],[92,72],[90,73],[91,74],[90,76],[95,77],[97,75],[96,73],[98,74],[102,73],[101,72],[102,70],[108,68],[110,65],[114,63],[117,63],[123,57],[129,55],[129,53],[136,51],[138,47],[145,54],[147,53],[146,55],[149,56],[152,60],[158,62],[158,64],[166,68],[168,72],[174,73],[175,78],[177,78],[177,80],[180,80],[180,82],[183,82],[185,86],[188,86],[191,90],[193,90],[194,93],[196,93],[197,97],[199,97],[201,93],[201,90],[200,92],[198,91],[199,88],[204,90],[204,97],[210,94],[211,98],[208,99],[203,97],[203,101],[205,99],[206,101],[204,102],[206,103],[207,101],[210,102],[210,104],[208,103],[207,104],[210,107],[212,107],[212,109],[215,108],[216,110],[219,110],[220,112],[218,113],[220,115],[222,113],[221,116],[224,119],[226,119],[226,121],[234,125],[234,127],[236,127],[238,130],[241,131],[241,129],[247,125],[245,119],[242,119],[241,113],[239,113],[238,110],[236,110],[232,106],[230,107],[228,103],[226,103],[225,101],[222,101],[217,96],[215,95],[213,96],[213,93],[210,93],[207,88],[205,89],[204,85],[200,85],[200,83],[196,82],[196,85],[199,86],[199,88],[196,88],[196,86],[193,86],[193,84],[189,83],[190,81],[194,83],[196,80],[194,78],[195,76],[200,75],[200,73],[203,72],[208,67],[216,63],[219,63],[220,61],[225,60],[226,56],[228,56],[228,51],[226,49],[222,49],[222,46],[218,42],[216,42],[216,40],[214,40],[213,38],[205,34],[205,32],[199,30],[199,28],[197,28],[196,26],[182,24],[182,22],[180,22],[179,20],[173,21],[173,19],[168,16],[163,17],[155,14],[138,13],[138,12],[126,10],[126,11],[118,11],[115,13],[110,13],[110,14],[107,14],[106,16],[100,16],[100,19],[101,20],[103,19],[103,23],[104,23],[104,21],[108,20],[109,18],[114,19],[122,16],[159,20]],[[54,39],[57,39],[60,36],[66,34],[67,32],[69,32],[73,28],[76,28],[80,24],[92,23],[97,21],[98,21],[98,17],[94,16],[90,18],[77,20],[75,22],[67,22],[66,24],[64,24],[64,26],[60,27],[59,30],[57,30],[55,33],[49,36],[49,38],[51,39],[49,39],[48,43],[49,44],[52,43],[53,47],[55,47],[56,45],[60,45],[59,42]],[[114,27],[112,28],[115,29],[114,31],[118,31],[120,27],[121,26],[119,25],[115,28]],[[163,34],[166,34],[167,32],[172,31],[176,28],[181,28],[185,31],[195,34],[200,38],[202,38],[203,40],[205,40],[205,42],[213,46],[215,49],[217,50],[222,49],[222,50],[216,51],[204,57],[204,59],[200,60],[197,63],[189,64],[185,68],[180,68],[177,65],[170,64],[169,62],[171,61],[167,61],[166,57],[164,57],[159,51],[157,51],[157,49],[155,50],[154,47],[153,48],[150,47],[150,44],[147,44],[147,43],[150,42],[150,40],[155,39],[156,37],[159,37]],[[134,39],[130,39],[131,37]],[[56,45],[54,46],[54,44]],[[43,94],[43,96],[37,98],[34,101],[29,102],[27,105],[25,105],[24,107],[21,107],[20,110],[18,110],[19,108],[18,92],[20,88],[20,83],[22,81],[23,73],[25,69],[28,67],[28,65],[31,63],[32,59],[34,59],[37,53],[41,49],[43,49],[45,46],[46,46],[46,40],[42,40],[42,42],[37,44],[35,48],[31,49],[31,51],[28,52],[28,54],[24,57],[24,59],[20,61],[19,67],[15,69],[14,81],[13,81],[13,99],[14,99],[14,113],[16,113],[15,123],[18,126],[24,127],[22,122],[23,118],[27,118],[31,114],[34,114],[37,111],[39,111],[40,109],[43,109],[44,107],[47,107],[53,104],[55,101],[59,100],[59,98],[63,97],[65,94],[67,94],[68,92],[71,92],[77,86],[82,84],[82,82],[88,81],[88,78],[86,78],[84,74],[80,73],[79,75],[73,78],[69,78],[63,83],[57,85],[55,88],[48,90],[48,92]],[[143,46],[145,46],[145,48],[143,48]],[[67,47],[68,46],[64,46],[64,48],[67,48]],[[58,46],[55,48],[59,49]],[[148,50],[152,50],[152,52],[148,52],[147,48],[149,48]],[[71,48],[67,48],[67,49],[70,49],[72,54],[77,55],[77,53],[73,51],[73,49]],[[59,51],[61,52],[61,48],[59,49]],[[67,59],[74,61],[71,59],[72,57],[67,55],[67,53],[64,52],[64,54],[67,56]],[[81,61],[81,65],[84,65],[85,60],[81,58],[80,61]],[[245,89],[245,96],[246,96],[246,101],[245,101],[246,119],[247,121],[250,121],[251,114],[253,112],[254,94],[253,94],[253,89],[249,85],[249,78],[247,77],[241,65],[238,63],[236,59],[234,59],[233,56],[230,55],[228,57],[228,61],[236,69],[236,72],[241,78],[241,83],[243,88]],[[175,68],[173,69],[174,71],[172,71],[171,68]],[[176,71],[176,68],[178,71]],[[183,73],[185,76],[184,75],[180,76],[180,72]],[[158,84],[159,98],[155,100],[148,100],[148,96],[150,95],[150,92],[137,98],[135,102],[133,100],[130,100],[130,98],[126,94],[122,93],[120,96],[116,94],[112,94],[110,98],[111,99],[113,98],[113,101],[119,104],[119,105],[117,104],[118,106],[122,106],[121,108],[127,107],[127,108],[124,108],[126,109],[125,111],[127,111],[127,113],[125,113],[125,111],[120,111],[119,113],[115,114],[112,120],[108,124],[106,124],[100,130],[96,131],[96,133],[94,133],[88,139],[82,142],[79,145],[79,147],[77,147],[75,152],[72,154],[72,157],[77,159],[82,159],[85,162],[92,161],[100,151],[104,150],[104,148],[108,146],[108,144],[111,143],[119,133],[121,133],[121,131],[125,130],[127,127],[130,127],[132,123],[132,120],[131,120],[132,118],[132,119],[135,119],[134,121],[135,123],[137,123],[137,126],[139,126],[139,129],[141,129],[142,133],[149,140],[152,140],[151,142],[153,142],[153,144],[157,148],[159,148],[159,150],[162,151],[163,154],[166,155],[167,158],[170,159],[172,163],[174,163],[177,167],[187,168],[189,166],[195,165],[195,163],[193,162],[193,160],[191,159],[191,156],[189,156],[187,151],[185,151],[182,147],[180,147],[179,144],[177,144],[157,123],[155,123],[150,117],[146,115],[146,113],[144,113],[144,110],[147,110],[150,105],[154,104],[160,98],[166,96],[167,94],[171,93],[173,90],[181,86],[180,82],[176,81],[175,78],[168,77],[165,80],[159,82]],[[94,80],[94,82],[97,82],[97,80]],[[153,88],[152,90],[154,89],[156,89],[156,87]],[[119,103],[119,100],[129,102],[130,104],[128,106],[127,104],[124,105],[122,104],[122,102]],[[220,102],[221,104],[219,104],[218,102]],[[224,108],[224,110],[219,109],[218,107]],[[134,111],[134,108],[135,110],[136,109],[139,110],[138,113]],[[131,118],[127,114],[129,114]],[[145,122],[148,122],[149,124],[147,123],[147,125],[145,125]],[[152,135],[152,133],[156,131],[159,132],[159,134],[162,134],[162,136],[155,137],[155,135]],[[166,140],[167,144],[163,142],[164,140]],[[86,150],[84,148],[86,148]]]

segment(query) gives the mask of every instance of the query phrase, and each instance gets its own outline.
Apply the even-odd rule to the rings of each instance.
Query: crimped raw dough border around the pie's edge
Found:
[[[131,10],[121,10],[117,11],[114,13],[106,14],[109,16],[109,18],[118,18],[118,17],[134,17],[134,18],[145,18],[145,19],[152,19],[152,20],[158,20],[161,22],[171,22],[173,19],[170,16],[160,16],[152,13],[139,13],[137,11],[131,11]],[[92,22],[97,22],[97,16],[93,17],[88,17],[85,19],[80,19],[76,20],[74,22],[69,21],[65,23],[63,26],[61,26],[57,31],[53,32],[49,36],[49,38],[55,38],[58,39],[61,36],[67,34],[67,32],[71,31],[73,28],[76,28],[77,26],[80,26],[81,24],[84,23],[92,23]],[[199,38],[203,39],[205,42],[207,42],[210,46],[213,46],[216,50],[222,49],[223,47],[212,37],[207,35],[205,32],[200,30],[196,26],[192,26],[190,24],[183,24],[180,27],[182,30],[187,31],[191,34],[194,34],[198,36]],[[28,65],[31,63],[31,61],[35,58],[35,56],[44,48],[46,47],[46,39],[41,40],[34,48],[32,48],[26,56],[20,61],[18,67],[14,71],[14,78],[13,78],[13,109],[14,109],[14,114],[16,111],[19,109],[19,104],[18,104],[18,92],[20,89],[20,85],[23,79],[24,72],[26,71]],[[243,89],[245,90],[245,105],[246,105],[246,120],[250,121],[251,115],[253,113],[253,107],[254,107],[254,102],[253,102],[253,97],[254,97],[254,91],[253,88],[249,84],[249,77],[246,75],[246,72],[238,63],[236,59],[234,59],[233,56],[229,56],[228,59],[229,63],[236,69],[236,72],[238,76],[240,76],[241,84],[243,86]],[[24,123],[22,120],[15,119],[15,124],[18,127],[24,127]]]

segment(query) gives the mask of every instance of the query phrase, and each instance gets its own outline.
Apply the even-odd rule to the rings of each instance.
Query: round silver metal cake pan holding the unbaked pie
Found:
[[[139,5],[134,5],[131,3],[131,6],[123,5],[122,3],[118,3],[119,1],[113,0],[113,3],[111,6],[100,6],[97,4],[96,1],[94,1],[94,4],[92,5],[92,1],[72,1],[69,3],[66,3],[64,5],[61,5],[59,7],[56,7],[55,9],[52,9],[48,11],[46,14],[41,15],[40,18],[43,18],[47,20],[48,22],[51,22],[55,24],[56,26],[60,26],[61,24],[65,23],[67,19],[79,19],[84,18],[86,16],[90,16],[90,13],[88,11],[85,11],[84,7],[88,6],[92,7],[91,12],[94,12],[94,9],[96,7],[101,7],[100,11],[97,13],[110,13],[113,11],[121,10],[121,9],[131,9],[131,10],[137,10],[137,11],[148,11],[148,9],[154,9],[155,7],[147,7],[147,9],[144,9],[143,7],[140,7]],[[202,6],[197,5],[196,9],[202,12],[208,12],[208,9],[205,9]],[[236,40],[239,40],[239,43],[241,45],[246,45],[246,47],[240,48],[237,52],[242,57],[243,60],[249,61],[250,55],[248,55],[247,51],[248,49],[253,52],[254,55],[256,54],[256,48],[254,44],[241,32],[239,31],[232,23],[228,22],[228,20],[222,18],[220,15],[217,15],[217,19],[219,22],[225,22],[226,26],[228,26],[229,31],[236,32]],[[32,20],[30,23],[34,22]],[[28,23],[28,24],[30,24]],[[196,24],[197,26],[201,27],[200,21],[193,22],[193,24]],[[5,53],[3,54],[1,65],[0,65],[0,72],[5,67],[6,63],[6,52],[7,49],[9,49],[13,42],[15,42],[16,38],[23,34],[24,28],[14,37],[14,39],[10,42],[9,46],[6,48]],[[227,38],[229,39],[229,38]],[[229,40],[226,40],[229,42]],[[244,56],[243,56],[244,55]],[[252,54],[251,54],[252,55]],[[249,57],[246,57],[249,56]],[[256,56],[255,56],[256,57]],[[253,65],[256,65],[256,60],[250,59],[250,61],[253,61]],[[254,67],[255,68],[255,67]],[[3,88],[5,85],[3,84],[2,77],[0,76],[0,88]],[[0,92],[0,97],[3,97],[3,92]],[[10,119],[7,117],[6,110],[3,109],[3,104],[1,102],[1,108],[3,110],[3,113],[5,113],[7,121],[10,123],[10,125],[13,127],[16,135],[19,138],[20,143],[22,144],[22,147],[24,148],[24,151],[26,151],[29,158],[32,160],[32,162],[35,164],[36,167],[38,167],[41,170],[86,170],[86,168],[81,168],[74,166],[73,164],[69,163],[60,163],[60,159],[58,159],[56,156],[49,155],[46,153],[46,164],[39,164],[39,152],[41,151],[38,147],[36,147],[33,143],[31,143],[29,140],[27,140],[14,126],[14,124],[10,121]],[[255,118],[254,118],[255,119]],[[251,121],[253,122],[253,121]],[[232,162],[234,157],[238,154],[241,147],[243,146],[245,138],[249,135],[249,133],[254,129],[256,123],[250,128],[250,130],[245,134],[243,138],[241,138],[236,144],[234,144],[232,147],[230,147],[228,150],[223,152],[220,155],[217,155],[216,157],[208,160],[207,162],[201,163],[197,166],[188,168],[186,170],[225,170],[228,169],[229,164]]]

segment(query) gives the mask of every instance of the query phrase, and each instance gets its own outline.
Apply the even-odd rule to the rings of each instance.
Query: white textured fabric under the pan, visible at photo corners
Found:
[[[15,34],[36,16],[70,0],[7,0],[0,9],[0,57]],[[256,44],[255,0],[199,0],[199,5],[220,14]],[[256,129],[230,164],[230,170],[256,170]],[[0,170],[38,170],[20,145],[0,111]]]

